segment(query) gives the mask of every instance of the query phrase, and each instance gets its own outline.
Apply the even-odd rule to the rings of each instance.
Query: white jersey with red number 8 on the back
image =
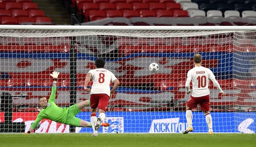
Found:
[[[92,88],[91,94],[108,94],[110,96],[110,81],[114,82],[116,80],[116,76],[106,69],[93,69],[88,73],[92,74]]]

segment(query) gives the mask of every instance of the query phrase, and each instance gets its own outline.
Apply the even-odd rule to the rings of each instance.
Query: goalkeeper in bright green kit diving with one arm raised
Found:
[[[76,114],[78,114],[82,108],[84,108],[85,106],[90,106],[88,100],[79,102],[66,108],[60,108],[54,103],[57,79],[59,74],[60,73],[56,71],[50,74],[53,77],[52,93],[50,95],[50,99],[48,100],[48,102],[45,96],[41,96],[38,99],[39,104],[42,106],[43,109],[38,114],[34,123],[31,124],[26,134],[29,134],[36,127],[36,125],[44,118],[55,122],[64,123],[67,125],[74,125],[77,127],[92,127],[92,124],[90,122],[75,117]],[[101,125],[107,127],[109,126],[109,123],[102,123]]]

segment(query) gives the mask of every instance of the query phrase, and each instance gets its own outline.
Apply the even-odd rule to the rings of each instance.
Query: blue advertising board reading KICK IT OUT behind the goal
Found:
[[[214,133],[255,133],[256,113],[212,112]],[[90,121],[90,112],[81,112],[78,118]],[[186,112],[107,112],[101,127],[103,133],[182,133],[186,127]],[[193,133],[208,133],[203,112],[193,112]],[[90,133],[91,128],[80,128],[80,133]]]

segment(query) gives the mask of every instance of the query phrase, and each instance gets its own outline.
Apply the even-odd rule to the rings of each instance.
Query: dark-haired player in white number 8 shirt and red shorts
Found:
[[[112,98],[112,94],[119,85],[119,81],[116,76],[104,69],[105,61],[102,58],[96,59],[96,69],[90,70],[85,79],[84,89],[90,93],[90,107],[92,108],[91,122],[93,134],[92,136],[98,136],[98,129],[100,128],[101,121],[106,117],[105,112],[108,106],[109,98]],[[92,89],[87,88],[88,83],[92,79]],[[112,90],[110,91],[110,81],[114,83]],[[99,108],[99,117],[96,116],[97,107]]]

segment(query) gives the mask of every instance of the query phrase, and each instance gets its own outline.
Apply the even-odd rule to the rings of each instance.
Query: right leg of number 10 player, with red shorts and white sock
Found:
[[[210,114],[210,96],[202,96],[202,102],[200,103],[201,110],[204,111],[206,123],[208,125],[208,133],[213,134],[212,130],[212,116]]]

